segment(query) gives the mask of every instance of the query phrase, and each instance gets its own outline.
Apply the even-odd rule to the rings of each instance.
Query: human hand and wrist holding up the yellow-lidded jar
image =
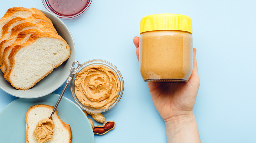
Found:
[[[139,37],[134,37],[133,43],[139,61]],[[147,82],[147,84],[152,101],[165,122],[167,141],[170,143],[200,143],[193,112],[200,85],[196,49],[193,49],[193,71],[187,82]]]

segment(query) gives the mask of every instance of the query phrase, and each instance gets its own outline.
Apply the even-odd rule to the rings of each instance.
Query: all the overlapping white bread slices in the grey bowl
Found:
[[[10,8],[0,27],[0,69],[16,89],[32,88],[70,56],[69,45],[38,9]]]

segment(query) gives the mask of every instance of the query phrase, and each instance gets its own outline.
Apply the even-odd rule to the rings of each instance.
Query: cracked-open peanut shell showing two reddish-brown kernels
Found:
[[[94,126],[93,133],[103,135],[106,134],[108,131],[114,129],[116,123],[114,121],[106,121],[102,126]]]

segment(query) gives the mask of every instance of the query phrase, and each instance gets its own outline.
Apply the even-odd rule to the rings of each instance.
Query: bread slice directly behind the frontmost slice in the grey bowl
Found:
[[[3,64],[0,67],[0,69],[3,71],[4,74],[6,72],[8,73],[9,70],[10,70],[11,64],[10,64],[8,56],[10,55],[11,50],[13,49],[13,47],[16,46],[16,45],[20,45],[20,44],[25,43],[29,39],[30,35],[33,34],[33,33],[36,33],[36,32],[55,33],[55,30],[49,29],[49,28],[24,30],[24,31],[20,32],[17,35],[15,41],[7,41],[7,42],[9,42],[9,44],[10,43],[13,43],[13,44],[11,44],[10,46],[7,46],[7,47],[5,47],[6,44],[2,45],[3,48],[4,48],[4,52],[3,52],[3,54],[2,54],[3,56],[1,58]],[[0,44],[0,46],[1,46],[1,44]],[[6,74],[4,75],[4,77],[6,77]]]

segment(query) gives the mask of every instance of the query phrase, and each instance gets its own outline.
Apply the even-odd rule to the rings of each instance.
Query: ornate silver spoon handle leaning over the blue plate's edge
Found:
[[[77,68],[74,67],[75,64],[77,64]],[[65,84],[65,86],[64,86],[64,88],[63,88],[63,90],[62,90],[62,92],[61,92],[61,94],[60,94],[60,96],[59,96],[59,99],[58,99],[56,105],[54,106],[53,112],[52,112],[52,114],[51,114],[51,116],[50,116],[49,118],[52,118],[52,117],[53,117],[53,114],[54,114],[54,112],[56,111],[56,109],[57,109],[57,107],[58,107],[58,105],[59,105],[59,103],[60,103],[60,100],[61,100],[61,98],[62,98],[64,92],[66,91],[66,89],[67,89],[67,87],[68,87],[68,85],[69,85],[69,83],[70,83],[70,81],[71,81],[71,79],[72,79],[72,76],[73,76],[75,73],[77,73],[78,68],[79,68],[80,66],[81,66],[81,64],[80,64],[79,61],[74,61],[74,62],[73,62],[72,67],[70,68],[70,75],[69,75],[69,77],[68,77],[68,80],[67,80],[67,82],[66,82],[66,84]]]

